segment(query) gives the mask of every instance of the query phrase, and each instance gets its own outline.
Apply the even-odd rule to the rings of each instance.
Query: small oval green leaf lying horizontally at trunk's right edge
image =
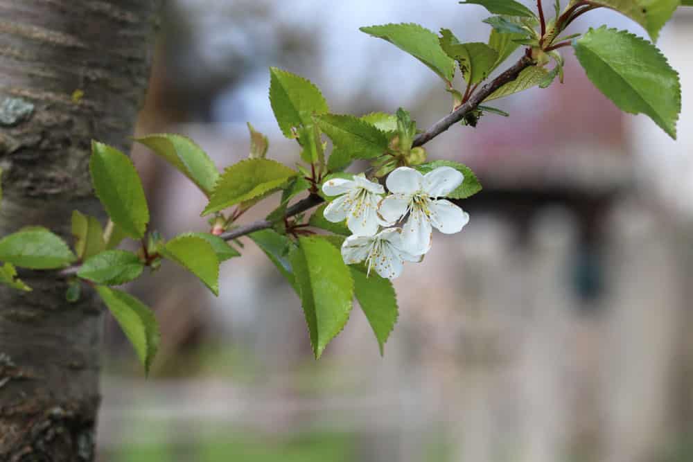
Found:
[[[85,261],[77,276],[97,284],[121,285],[139,278],[143,270],[143,263],[132,252],[107,250]]]

